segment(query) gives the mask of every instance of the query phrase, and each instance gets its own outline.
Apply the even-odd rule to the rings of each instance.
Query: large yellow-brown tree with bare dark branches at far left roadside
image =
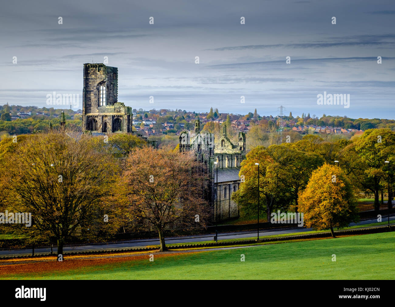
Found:
[[[31,212],[29,235],[55,237],[58,254],[73,236],[87,237],[115,181],[117,164],[98,152],[90,136],[39,134],[23,142],[8,161],[8,203]],[[100,220],[104,222],[103,216]],[[96,221],[97,222],[97,221]]]

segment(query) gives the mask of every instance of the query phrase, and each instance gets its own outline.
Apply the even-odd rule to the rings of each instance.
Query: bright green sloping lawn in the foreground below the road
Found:
[[[15,279],[394,279],[395,233],[181,254]],[[241,254],[245,262],[241,262]],[[336,254],[336,262],[332,262]],[[66,260],[67,261],[67,260]],[[8,279],[11,278],[10,276]]]

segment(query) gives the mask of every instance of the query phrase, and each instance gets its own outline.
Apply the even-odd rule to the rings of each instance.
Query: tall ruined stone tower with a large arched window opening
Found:
[[[85,63],[82,131],[132,133],[132,108],[118,102],[118,68]]]

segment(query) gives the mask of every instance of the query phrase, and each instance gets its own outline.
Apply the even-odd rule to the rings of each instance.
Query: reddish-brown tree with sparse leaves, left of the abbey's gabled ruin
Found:
[[[177,153],[170,147],[136,148],[126,161],[124,182],[128,210],[156,227],[160,250],[166,250],[164,230],[171,225],[204,226],[208,204],[203,199],[208,175],[192,152]]]

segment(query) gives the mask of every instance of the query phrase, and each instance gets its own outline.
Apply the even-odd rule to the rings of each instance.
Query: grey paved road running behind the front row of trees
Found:
[[[390,215],[390,220],[395,220],[395,215]],[[387,221],[387,217],[382,216],[383,222]],[[377,219],[366,220],[359,222],[357,224],[351,223],[350,226],[354,225],[365,225],[377,222]],[[278,234],[286,234],[286,233],[295,233],[295,232],[305,232],[312,231],[312,228],[292,228],[292,229],[278,229],[278,230],[267,230],[260,229],[259,235],[278,235]],[[242,238],[250,238],[257,235],[256,231],[237,231],[237,232],[228,232],[228,233],[220,233],[218,234],[218,240],[225,239],[242,239]],[[170,237],[166,238],[166,244],[174,244],[174,243],[194,243],[201,241],[213,241],[214,235],[196,235],[196,236],[187,236],[187,237]],[[109,244],[92,244],[92,245],[80,245],[80,246],[65,246],[63,248],[64,252],[77,252],[77,251],[88,251],[88,250],[111,250],[111,249],[127,249],[133,247],[145,247],[147,245],[159,245],[158,239],[138,239],[138,240],[130,240],[130,241],[122,241],[122,243],[109,243]],[[56,247],[54,246],[53,252],[56,254]],[[51,252],[51,248],[36,248],[34,250],[35,254],[47,254]],[[27,255],[31,254],[32,249],[20,249],[20,250],[1,250],[0,256],[16,256],[16,255]]]

